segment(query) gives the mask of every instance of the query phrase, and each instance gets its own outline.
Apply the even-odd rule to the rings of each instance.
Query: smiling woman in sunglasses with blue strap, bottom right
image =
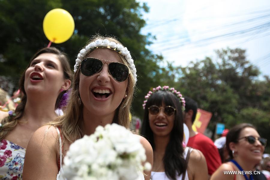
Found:
[[[226,148],[230,161],[222,164],[211,176],[212,180],[253,179],[251,173],[225,174],[225,171],[252,171],[262,160],[266,139],[261,138],[255,127],[242,123],[230,129],[226,136]]]

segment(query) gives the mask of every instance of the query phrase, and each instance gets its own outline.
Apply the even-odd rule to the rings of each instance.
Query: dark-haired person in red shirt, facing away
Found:
[[[208,175],[211,176],[221,165],[219,152],[214,145],[214,142],[210,138],[201,133],[193,131],[192,124],[196,117],[198,105],[193,99],[189,97],[184,98],[186,101],[184,122],[189,130],[189,140],[187,146],[198,149],[202,152],[206,159]]]

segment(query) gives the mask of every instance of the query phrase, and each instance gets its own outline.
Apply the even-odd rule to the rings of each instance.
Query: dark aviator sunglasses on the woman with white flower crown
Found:
[[[97,58],[85,58],[82,60],[81,63],[81,72],[85,76],[93,76],[94,74],[101,71],[103,64],[107,62],[103,59],[97,59]],[[111,63],[108,64],[108,71],[110,75],[115,79],[117,82],[124,82],[126,79],[128,79],[129,70],[128,66],[126,66],[123,63],[120,62],[113,62],[109,61]]]

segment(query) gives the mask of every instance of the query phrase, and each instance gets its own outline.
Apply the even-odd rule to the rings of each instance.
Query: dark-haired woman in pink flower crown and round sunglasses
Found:
[[[153,148],[152,180],[208,179],[199,150],[183,148],[184,98],[169,86],[158,86],[145,96],[141,134]]]

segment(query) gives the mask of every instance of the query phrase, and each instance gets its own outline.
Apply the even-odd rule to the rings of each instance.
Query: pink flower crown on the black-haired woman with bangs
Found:
[[[175,90],[174,88],[170,88],[169,86],[167,85],[164,85],[163,87],[161,87],[160,85],[156,88],[153,88],[153,92],[152,91],[149,91],[147,93],[147,95],[144,97],[145,100],[143,101],[143,109],[145,109],[145,105],[146,105],[146,102],[147,100],[150,98],[150,96],[157,92],[157,91],[170,91],[172,92],[174,95],[176,95],[176,97],[179,99],[181,105],[182,105],[182,110],[184,111],[185,110],[185,105],[186,105],[186,101],[185,101],[185,98],[183,98],[182,94],[180,93],[180,91],[177,91]]]

